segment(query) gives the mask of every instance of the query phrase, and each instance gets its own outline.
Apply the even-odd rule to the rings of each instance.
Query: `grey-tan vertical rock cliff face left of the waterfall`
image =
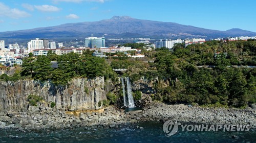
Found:
[[[103,77],[73,79],[66,86],[55,86],[50,82],[20,80],[0,82],[0,112],[28,110],[29,94],[36,94],[47,102],[54,102],[59,111],[95,110],[98,102],[106,99]]]

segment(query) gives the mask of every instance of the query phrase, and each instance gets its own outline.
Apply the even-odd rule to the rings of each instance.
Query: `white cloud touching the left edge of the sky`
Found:
[[[22,17],[28,17],[30,16],[29,13],[27,13],[26,11],[22,11],[16,8],[9,8],[8,6],[6,6],[3,3],[0,3],[0,16],[7,16],[7,17],[11,17],[11,18],[22,18]]]

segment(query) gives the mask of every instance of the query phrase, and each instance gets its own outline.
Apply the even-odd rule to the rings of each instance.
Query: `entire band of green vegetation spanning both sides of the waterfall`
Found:
[[[141,49],[145,58],[122,57],[104,59],[93,57],[92,51],[83,55],[69,53],[57,56],[49,52],[47,56],[33,55],[23,59],[22,72],[13,76],[2,75],[1,80],[16,81],[20,78],[33,78],[51,81],[56,85],[66,85],[73,78],[95,78],[104,76],[115,81],[117,74],[112,68],[128,69],[122,76],[130,77],[131,82],[143,77],[153,81],[157,93],[152,99],[168,103],[185,103],[208,107],[245,107],[256,102],[256,68],[240,67],[256,65],[256,41],[207,41],[202,44],[176,44],[172,51],[166,48],[146,51],[144,44],[127,43]],[[135,53],[131,53],[135,54]],[[51,61],[58,67],[51,68]],[[84,92],[89,89],[84,87]],[[98,104],[108,106],[117,103],[118,97],[108,93],[107,100]],[[36,98],[29,96],[31,105]],[[135,91],[135,100],[141,92]]]

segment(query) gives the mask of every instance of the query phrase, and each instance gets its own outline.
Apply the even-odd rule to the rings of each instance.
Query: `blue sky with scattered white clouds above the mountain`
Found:
[[[1,0],[0,32],[98,21],[112,16],[256,32],[256,1]]]

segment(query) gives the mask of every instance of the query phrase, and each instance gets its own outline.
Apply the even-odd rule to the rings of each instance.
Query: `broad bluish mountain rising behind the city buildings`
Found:
[[[241,29],[227,31],[209,30],[174,22],[136,19],[129,16],[113,16],[94,22],[66,23],[59,26],[29,30],[0,32],[0,38],[85,38],[105,35],[106,38],[190,38],[205,39],[226,36],[255,36],[255,32]]]

